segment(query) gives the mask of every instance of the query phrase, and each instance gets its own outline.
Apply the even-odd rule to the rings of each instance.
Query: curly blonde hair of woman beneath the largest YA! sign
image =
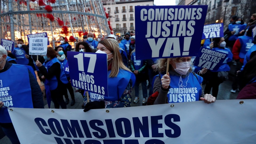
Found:
[[[178,58],[170,58],[170,65],[172,64],[172,63],[176,63],[176,62],[182,62],[181,60],[183,59],[183,57],[178,57]],[[165,58],[165,59],[158,59],[157,60],[157,63],[156,63],[156,65],[157,65],[157,70],[159,71],[159,72],[164,72],[164,71],[166,71],[166,67],[167,67],[167,59]],[[189,72],[192,72],[192,66],[193,66],[193,63],[191,62],[191,66],[190,66],[190,68],[189,68]],[[171,67],[169,67],[169,70],[170,69],[172,69]]]

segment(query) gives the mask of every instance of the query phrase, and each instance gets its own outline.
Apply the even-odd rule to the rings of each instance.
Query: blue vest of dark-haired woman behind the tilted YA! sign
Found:
[[[232,52],[228,48],[220,49],[220,48],[216,47],[216,48],[212,48],[212,49],[216,50],[216,51],[219,51],[219,52],[224,52],[224,53],[228,54],[228,57],[223,61],[223,63],[221,64],[220,68],[216,72],[219,72],[219,71],[229,71],[230,67],[229,67],[229,65],[227,63],[232,61],[232,59],[233,59]]]

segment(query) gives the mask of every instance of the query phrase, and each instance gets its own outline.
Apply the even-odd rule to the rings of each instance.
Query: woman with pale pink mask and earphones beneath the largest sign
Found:
[[[167,59],[159,59],[157,62],[160,76],[154,78],[153,92],[159,94],[154,104],[198,100],[209,104],[216,100],[210,94],[204,95],[201,85],[203,78],[192,73],[191,57],[170,58],[169,63],[169,73],[166,75]]]

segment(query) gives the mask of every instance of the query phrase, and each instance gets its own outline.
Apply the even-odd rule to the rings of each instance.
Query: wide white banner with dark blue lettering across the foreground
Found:
[[[240,101],[9,114],[21,144],[254,144],[256,100]]]

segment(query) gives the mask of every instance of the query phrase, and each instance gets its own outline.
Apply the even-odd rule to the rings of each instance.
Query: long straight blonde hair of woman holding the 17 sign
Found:
[[[104,39],[99,42],[103,44],[110,52],[113,52],[112,68],[109,77],[116,77],[119,73],[119,68],[131,71],[123,64],[121,53],[119,52],[119,44],[114,39]]]

